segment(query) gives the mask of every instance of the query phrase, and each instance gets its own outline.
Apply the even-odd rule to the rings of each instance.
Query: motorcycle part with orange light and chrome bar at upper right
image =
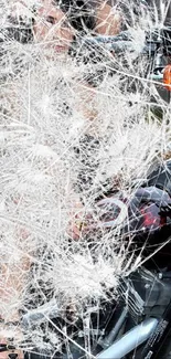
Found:
[[[74,49],[74,50],[73,50]],[[122,31],[116,36],[85,36],[75,44],[72,51],[77,60],[82,59],[87,64],[99,64],[104,59],[114,62],[111,73],[120,73],[118,63],[125,61],[130,53],[137,53],[137,57],[145,57],[147,65],[142,77],[153,84],[162,99],[170,103],[171,94],[171,28],[163,27],[146,32],[143,43],[139,44],[135,41],[133,34],[130,31]],[[114,56],[111,56],[111,54]],[[117,61],[115,61],[115,59]],[[136,65],[135,65],[136,66]],[[127,67],[127,66],[125,66]],[[121,74],[121,73],[120,73]],[[131,74],[124,74],[131,77]],[[138,81],[138,77],[132,76],[131,80]],[[132,82],[132,81],[131,81]]]

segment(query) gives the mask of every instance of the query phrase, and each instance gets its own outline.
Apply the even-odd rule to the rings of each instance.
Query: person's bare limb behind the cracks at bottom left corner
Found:
[[[8,344],[13,337],[13,344],[19,345],[22,340],[22,329],[20,327],[20,308],[23,289],[25,287],[26,274],[30,270],[29,256],[21,255],[15,263],[2,263],[0,275],[0,344]],[[14,350],[18,359],[23,359],[22,350]],[[7,359],[9,351],[0,353],[0,359]]]

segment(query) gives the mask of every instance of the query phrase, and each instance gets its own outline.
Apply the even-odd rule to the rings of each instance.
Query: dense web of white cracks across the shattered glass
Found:
[[[162,2],[160,9],[164,13]],[[129,29],[137,49],[147,27],[154,27],[150,13]],[[133,235],[126,242],[120,226],[71,241],[71,213],[84,220],[90,211],[97,221],[97,199],[119,191],[131,198],[151,165],[162,163],[170,150],[170,105],[147,81],[148,61],[137,54],[126,51],[118,57],[98,45],[89,55],[79,36],[77,47],[71,44],[73,57],[57,57],[54,39],[42,49],[41,43],[17,42],[4,31],[1,35],[1,288],[9,298],[1,299],[1,307],[10,315],[13,308],[34,309],[55,298],[65,315],[72,303],[84,323],[85,308],[95,305],[98,317],[100,300],[117,297],[118,278],[143,263],[148,244],[137,257]],[[79,198],[83,207],[77,208]],[[65,325],[46,320],[52,330],[45,325],[32,330],[35,347],[45,346],[45,336],[56,351],[64,337],[66,346],[74,340]]]

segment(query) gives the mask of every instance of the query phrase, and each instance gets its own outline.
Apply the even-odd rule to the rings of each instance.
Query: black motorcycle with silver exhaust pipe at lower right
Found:
[[[137,255],[145,249],[141,265],[119,279],[117,300],[108,293],[109,300],[101,303],[100,310],[85,310],[83,320],[65,323],[67,332],[72,332],[70,355],[63,345],[57,358],[171,358],[170,173],[171,161],[167,161],[150,173],[131,199],[118,193],[97,201],[101,215],[94,228],[90,222],[90,231],[119,224],[125,240],[128,233],[136,234]],[[61,313],[56,300],[52,299],[24,314],[21,324],[24,330],[31,330],[39,323],[53,323],[54,318],[61,320]],[[87,319],[90,326],[86,328]],[[63,337],[62,331],[61,335]],[[86,349],[86,341],[90,351]],[[4,346],[0,348],[1,351],[6,349]]]

